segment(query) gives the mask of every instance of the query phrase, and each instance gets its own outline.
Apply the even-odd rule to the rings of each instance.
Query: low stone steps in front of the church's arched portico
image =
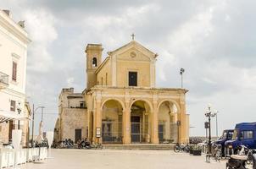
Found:
[[[175,144],[103,144],[105,150],[173,150]]]

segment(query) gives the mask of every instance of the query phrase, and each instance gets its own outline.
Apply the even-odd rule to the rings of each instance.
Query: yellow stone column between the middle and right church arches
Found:
[[[153,101],[153,112],[151,112],[152,143],[159,144],[159,110],[157,101]]]

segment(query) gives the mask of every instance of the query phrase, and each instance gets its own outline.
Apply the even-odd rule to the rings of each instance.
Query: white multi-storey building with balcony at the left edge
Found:
[[[24,22],[14,22],[8,10],[0,9],[0,112],[25,116],[26,59],[30,41]],[[24,124],[23,121],[0,124],[0,140],[8,142],[12,128],[23,129]]]

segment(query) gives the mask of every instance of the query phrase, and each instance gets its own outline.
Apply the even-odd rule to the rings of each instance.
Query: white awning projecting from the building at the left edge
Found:
[[[0,110],[0,123],[8,122],[11,120],[31,120],[29,117],[24,117],[14,112]]]

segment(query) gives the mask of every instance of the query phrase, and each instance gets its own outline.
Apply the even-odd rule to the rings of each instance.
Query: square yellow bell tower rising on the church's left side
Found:
[[[96,69],[102,63],[103,47],[101,44],[87,44],[86,46],[86,89],[97,85]]]

